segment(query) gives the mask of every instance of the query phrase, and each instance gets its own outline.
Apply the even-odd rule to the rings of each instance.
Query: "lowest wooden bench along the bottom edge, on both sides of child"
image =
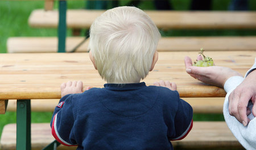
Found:
[[[14,150],[16,144],[16,124],[3,128],[1,149]],[[42,149],[54,140],[49,123],[31,124],[32,149]],[[172,141],[175,149],[242,148],[225,122],[194,122],[188,136],[180,141]],[[76,149],[60,145],[58,149]]]

